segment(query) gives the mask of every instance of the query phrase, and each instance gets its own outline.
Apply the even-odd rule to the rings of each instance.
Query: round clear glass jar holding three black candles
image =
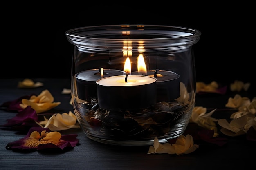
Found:
[[[182,135],[195,104],[193,45],[200,31],[105,25],[66,31],[74,45],[74,113],[86,136],[114,145],[152,145]]]

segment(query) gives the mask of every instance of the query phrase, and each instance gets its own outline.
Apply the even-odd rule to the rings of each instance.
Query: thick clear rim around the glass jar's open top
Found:
[[[79,48],[115,50],[124,42],[131,46],[141,43],[148,49],[188,48],[199,41],[201,32],[181,26],[166,25],[99,25],[69,29],[68,41]]]

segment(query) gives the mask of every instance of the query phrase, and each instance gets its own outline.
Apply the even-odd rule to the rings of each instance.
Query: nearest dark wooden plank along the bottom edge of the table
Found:
[[[217,170],[246,169],[239,159],[2,159],[1,170]]]

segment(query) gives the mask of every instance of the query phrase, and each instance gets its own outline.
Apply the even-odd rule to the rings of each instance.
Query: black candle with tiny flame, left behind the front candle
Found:
[[[115,75],[124,75],[124,71],[112,69],[91,69],[81,71],[76,74],[76,88],[79,99],[89,101],[97,97],[96,81],[102,77],[110,77]]]

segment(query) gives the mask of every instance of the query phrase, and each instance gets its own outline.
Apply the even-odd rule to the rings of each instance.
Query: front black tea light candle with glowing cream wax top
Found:
[[[105,77],[96,81],[99,107],[132,110],[156,104],[156,80],[143,75]]]

